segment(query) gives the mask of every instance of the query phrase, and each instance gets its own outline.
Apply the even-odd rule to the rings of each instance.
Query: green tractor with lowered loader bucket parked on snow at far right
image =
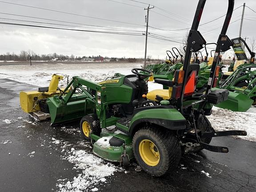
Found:
[[[217,87],[228,89],[229,95],[226,101],[216,106],[232,111],[246,112],[256,101],[255,53],[250,50],[242,38],[238,37],[231,41],[232,48],[237,57],[233,68],[234,71],[224,73],[217,82]],[[248,49],[250,54],[248,63],[244,47]],[[199,81],[198,84],[204,85],[204,88],[207,86],[206,81]]]

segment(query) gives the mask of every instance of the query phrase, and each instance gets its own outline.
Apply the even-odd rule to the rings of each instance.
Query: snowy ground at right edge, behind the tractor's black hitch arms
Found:
[[[212,115],[208,116],[208,120],[212,127],[218,131],[247,131],[247,136],[237,137],[256,142],[256,113],[232,112],[228,109],[213,107]]]

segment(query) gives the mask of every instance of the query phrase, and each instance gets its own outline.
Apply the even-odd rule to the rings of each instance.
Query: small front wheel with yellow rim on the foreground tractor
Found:
[[[80,130],[85,140],[91,140],[92,133],[100,136],[100,121],[97,116],[92,114],[82,117],[80,120]]]

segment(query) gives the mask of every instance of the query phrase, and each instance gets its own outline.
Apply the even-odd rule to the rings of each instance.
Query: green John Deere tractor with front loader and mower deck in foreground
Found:
[[[179,165],[181,155],[190,151],[207,149],[227,153],[227,147],[210,145],[212,137],[246,136],[247,133],[216,132],[206,116],[211,115],[212,104],[219,104],[228,97],[226,89],[213,90],[212,86],[218,79],[216,66],[220,50],[224,52],[231,45],[225,33],[234,0],[228,0],[228,12],[211,68],[212,81],[204,93],[195,93],[200,65],[190,64],[190,58],[192,52],[199,51],[206,44],[197,31],[205,1],[199,0],[196,9],[183,69],[175,71],[173,80],[155,79],[168,89],[148,92],[145,79],[152,76],[152,72],[133,68],[132,75],[100,83],[74,76],[61,94],[40,100],[30,95],[24,100],[21,98],[21,103],[24,105],[29,100],[38,104],[35,106],[37,111],[49,114],[52,124],[80,119],[82,135],[91,141],[96,156],[124,166],[135,158],[152,176],[162,176],[173,170]],[[115,126],[117,131],[107,131],[110,126]]]

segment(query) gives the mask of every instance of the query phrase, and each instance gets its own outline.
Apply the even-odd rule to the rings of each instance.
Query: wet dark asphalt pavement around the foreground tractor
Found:
[[[80,172],[63,159],[62,148],[52,138],[91,150],[79,145],[83,140],[76,131],[78,122],[51,127],[22,112],[18,93],[33,89],[0,79],[0,192],[57,191],[61,179],[72,180]],[[10,124],[3,122],[6,119]],[[179,168],[161,178],[138,171],[132,163],[126,172],[115,172],[107,184],[96,187],[103,192],[256,192],[256,143],[219,137],[211,144],[227,146],[229,153],[188,154]]]

